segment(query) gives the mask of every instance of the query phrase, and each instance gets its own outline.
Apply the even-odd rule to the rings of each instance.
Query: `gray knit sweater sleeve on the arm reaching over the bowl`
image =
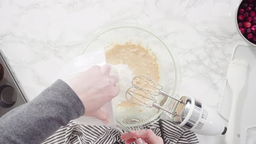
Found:
[[[39,144],[85,112],[82,101],[62,80],[0,118],[0,144]]]

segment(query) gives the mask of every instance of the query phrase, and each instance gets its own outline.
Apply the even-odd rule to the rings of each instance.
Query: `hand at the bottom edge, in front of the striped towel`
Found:
[[[164,144],[163,139],[154,134],[151,129],[131,131],[130,134],[122,133],[121,139],[125,141],[125,144],[131,144],[133,142],[137,144]]]

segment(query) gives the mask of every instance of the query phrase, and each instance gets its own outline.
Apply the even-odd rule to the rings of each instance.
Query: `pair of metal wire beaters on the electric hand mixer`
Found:
[[[182,100],[175,98],[174,96],[168,95],[167,92],[164,92],[163,87],[159,85],[157,82],[144,75],[138,75],[132,79],[131,83],[133,87],[128,88],[125,94],[125,97],[129,102],[140,106],[146,106],[148,108],[162,109],[170,113],[171,115],[174,115],[174,117],[180,116],[177,115],[176,112],[174,113],[172,111],[169,111],[156,103],[157,101],[154,99],[153,96],[163,95],[172,98],[176,101],[179,101],[180,103],[185,105],[185,103]]]

